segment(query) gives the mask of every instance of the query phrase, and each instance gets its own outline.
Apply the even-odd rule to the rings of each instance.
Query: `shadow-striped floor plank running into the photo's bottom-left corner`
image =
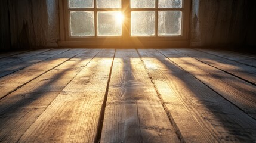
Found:
[[[17,142],[50,102],[99,51],[87,50],[2,99],[0,142]]]

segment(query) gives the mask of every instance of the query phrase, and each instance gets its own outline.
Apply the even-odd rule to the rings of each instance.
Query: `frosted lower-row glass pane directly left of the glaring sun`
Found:
[[[122,12],[104,11],[97,13],[98,36],[122,35]]]

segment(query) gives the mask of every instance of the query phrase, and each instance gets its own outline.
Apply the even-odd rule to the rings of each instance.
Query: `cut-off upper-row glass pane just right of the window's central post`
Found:
[[[131,0],[131,8],[155,8],[155,0]]]

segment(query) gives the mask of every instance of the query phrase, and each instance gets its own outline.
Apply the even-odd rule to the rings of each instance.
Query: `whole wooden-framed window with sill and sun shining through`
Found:
[[[60,43],[186,42],[189,8],[189,0],[61,0]]]

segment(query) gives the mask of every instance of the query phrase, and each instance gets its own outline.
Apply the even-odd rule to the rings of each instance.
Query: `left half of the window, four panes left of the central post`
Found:
[[[69,0],[69,36],[122,36],[121,8],[121,0]]]

